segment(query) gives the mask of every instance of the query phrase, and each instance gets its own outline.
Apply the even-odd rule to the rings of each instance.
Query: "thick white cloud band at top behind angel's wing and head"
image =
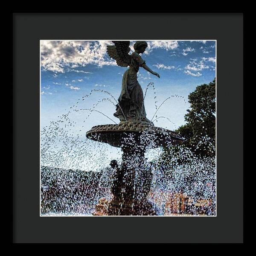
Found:
[[[130,48],[133,50],[131,41]],[[178,41],[147,41],[148,47],[145,54],[153,49],[161,48],[173,50],[178,47]],[[104,65],[116,65],[116,61],[109,58],[107,45],[113,45],[111,41],[41,41],[41,67],[43,71],[54,73],[75,71],[77,73],[90,73],[83,70],[70,70],[76,67],[85,67],[94,64],[99,67]],[[56,74],[54,75],[57,76]]]

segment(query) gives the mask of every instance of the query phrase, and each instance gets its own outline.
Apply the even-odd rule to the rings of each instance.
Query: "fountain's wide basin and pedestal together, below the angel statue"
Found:
[[[152,182],[151,163],[145,160],[147,149],[168,147],[183,142],[177,133],[145,122],[120,122],[118,125],[97,125],[86,137],[120,147],[123,151],[120,168],[113,168],[113,198],[100,199],[93,215],[157,215],[146,198]]]

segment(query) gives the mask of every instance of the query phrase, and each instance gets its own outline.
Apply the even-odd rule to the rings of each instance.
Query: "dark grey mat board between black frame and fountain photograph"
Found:
[[[217,216],[40,217],[39,40],[130,38],[217,40]],[[13,242],[243,242],[242,13],[15,13],[13,61]]]

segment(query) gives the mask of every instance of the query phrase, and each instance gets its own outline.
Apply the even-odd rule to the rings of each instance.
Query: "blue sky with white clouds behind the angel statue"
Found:
[[[174,130],[185,123],[184,115],[189,108],[187,98],[195,87],[209,83],[215,78],[215,41],[147,41],[148,49],[142,58],[151,70],[160,74],[160,79],[143,68],[138,73],[143,92],[149,82],[154,88],[148,89],[145,110],[148,119],[156,111],[156,106],[168,97],[157,112],[159,118],[155,126]],[[74,109],[93,108],[93,104],[108,98],[106,90],[118,99],[122,74],[127,68],[119,67],[108,57],[106,46],[111,41],[41,41],[41,127],[49,125],[58,116],[71,111],[72,119],[77,121],[73,129],[84,134],[94,125],[113,123],[100,113],[88,116],[89,111]],[[131,52],[134,41],[131,41]],[[154,93],[155,92],[155,93]],[[177,95],[177,96],[176,96]],[[156,96],[156,98],[154,98]],[[178,97],[179,96],[179,97]],[[155,101],[157,101],[155,103]],[[77,104],[77,102],[79,102]],[[72,107],[72,109],[70,108]],[[113,116],[115,107],[111,102],[100,102],[96,110]],[[154,118],[155,119],[155,118]],[[85,122],[84,122],[85,121]]]

